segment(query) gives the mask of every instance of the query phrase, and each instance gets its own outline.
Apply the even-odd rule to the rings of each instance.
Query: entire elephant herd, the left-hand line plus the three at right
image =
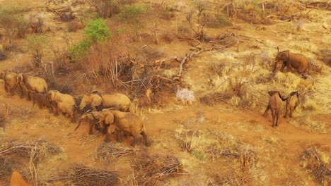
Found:
[[[306,75],[310,68],[310,62],[306,56],[290,51],[278,52],[274,72],[279,64],[281,64],[281,72],[287,67],[291,72],[296,71],[301,75]],[[33,100],[33,105],[37,103],[40,108],[49,108],[55,115],[63,113],[64,116],[71,118],[73,123],[76,122],[76,116],[80,115],[76,129],[81,123],[89,123],[89,134],[92,134],[94,127],[95,130],[106,134],[105,141],[109,141],[110,135],[116,132],[117,142],[122,142],[123,135],[131,135],[134,138],[131,145],[135,146],[142,135],[145,145],[150,145],[144,123],[139,116],[130,112],[131,101],[125,94],[101,94],[93,90],[78,99],[57,90],[48,90],[47,82],[41,77],[24,73],[17,74],[7,70],[0,71],[0,77],[4,80],[5,91],[11,95],[18,89],[21,98],[25,95],[28,100]],[[272,112],[272,127],[274,127],[279,123],[283,101],[286,101],[284,117],[292,117],[292,112],[299,104],[299,95],[296,91],[284,98],[277,90],[268,93],[269,104],[263,115],[267,116],[269,110]]]

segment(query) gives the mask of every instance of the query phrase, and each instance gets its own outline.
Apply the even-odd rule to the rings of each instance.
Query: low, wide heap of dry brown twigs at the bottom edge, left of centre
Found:
[[[119,182],[118,175],[115,171],[108,171],[100,168],[91,168],[82,164],[72,165],[67,171],[64,171],[62,175],[47,178],[45,182],[58,182],[67,180],[69,185],[105,185],[112,186],[117,185]]]

